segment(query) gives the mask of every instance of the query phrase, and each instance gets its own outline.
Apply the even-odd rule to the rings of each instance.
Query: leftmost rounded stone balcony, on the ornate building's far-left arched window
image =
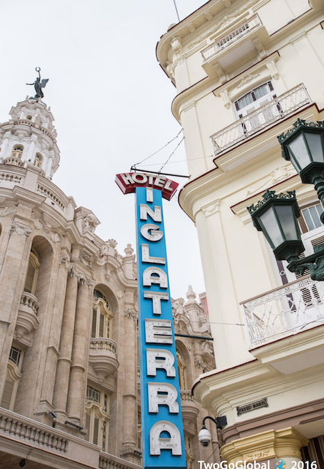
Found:
[[[31,332],[37,329],[39,321],[37,312],[40,304],[37,298],[28,292],[23,292],[20,299],[15,334],[16,338],[25,345],[31,345]],[[29,337],[28,337],[29,336]]]

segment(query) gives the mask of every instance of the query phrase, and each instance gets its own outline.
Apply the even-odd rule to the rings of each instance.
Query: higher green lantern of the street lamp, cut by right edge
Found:
[[[324,204],[324,121],[298,119],[293,129],[279,135],[282,158],[291,161],[302,183],[314,184],[318,199]],[[321,215],[324,223],[324,213]]]

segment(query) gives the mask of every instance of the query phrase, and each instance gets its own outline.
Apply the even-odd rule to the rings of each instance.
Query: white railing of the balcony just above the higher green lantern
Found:
[[[282,120],[310,102],[311,99],[305,86],[301,83],[292,88],[292,90],[281,94],[267,104],[264,104],[264,106],[254,110],[252,113],[241,117],[241,119],[225,127],[225,129],[214,133],[211,136],[214,154],[217,155],[233,145],[242,142],[242,140],[248,139],[251,135],[275,124],[275,122]]]

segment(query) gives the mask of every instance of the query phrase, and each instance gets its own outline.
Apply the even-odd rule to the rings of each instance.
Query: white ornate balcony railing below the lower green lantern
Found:
[[[324,285],[303,277],[241,307],[250,347],[257,347],[324,324]]]

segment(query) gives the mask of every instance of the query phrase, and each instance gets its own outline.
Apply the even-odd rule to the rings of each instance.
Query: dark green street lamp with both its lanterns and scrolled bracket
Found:
[[[282,157],[291,161],[302,183],[314,184],[318,199],[324,205],[324,121],[317,123],[298,119],[293,129],[279,135]],[[263,231],[278,261],[286,260],[291,272],[309,270],[311,279],[324,280],[324,244],[314,246],[314,254],[299,259],[305,247],[300,239],[297,218],[300,209],[295,191],[275,194],[266,190],[263,200],[247,207],[258,231]],[[324,223],[324,212],[321,215]]]

